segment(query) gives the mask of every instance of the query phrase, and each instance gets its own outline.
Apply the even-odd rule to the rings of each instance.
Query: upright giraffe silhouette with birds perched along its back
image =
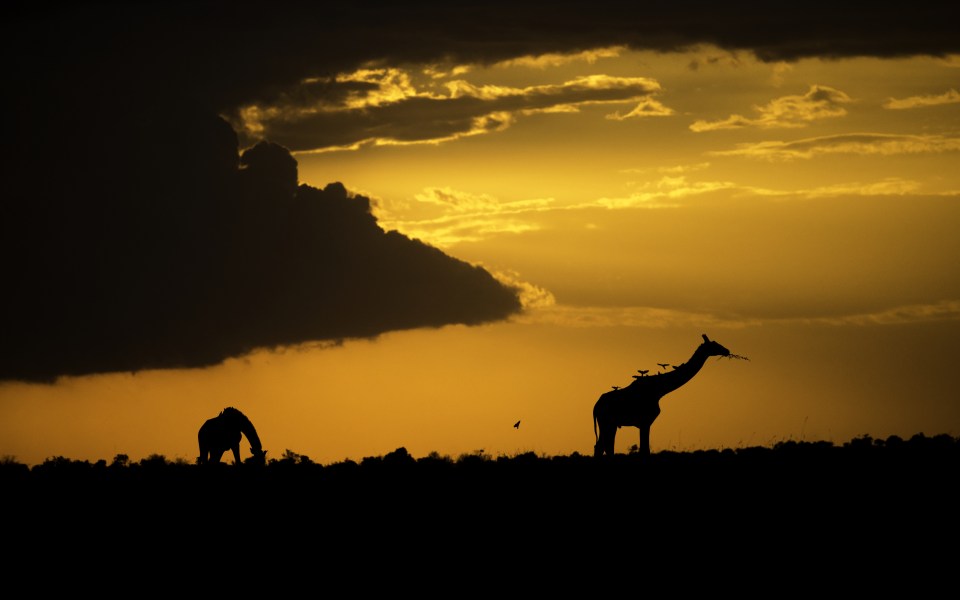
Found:
[[[640,453],[650,454],[650,427],[660,416],[660,399],[693,379],[711,356],[731,356],[730,351],[703,335],[703,343],[690,360],[669,373],[650,377],[634,375],[630,385],[601,394],[593,406],[594,456],[613,456],[617,429],[625,426],[640,430]],[[599,432],[598,432],[599,428]]]

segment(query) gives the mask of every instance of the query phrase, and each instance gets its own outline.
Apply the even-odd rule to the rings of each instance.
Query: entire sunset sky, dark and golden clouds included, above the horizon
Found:
[[[11,6],[0,457],[960,435],[957,8]]]

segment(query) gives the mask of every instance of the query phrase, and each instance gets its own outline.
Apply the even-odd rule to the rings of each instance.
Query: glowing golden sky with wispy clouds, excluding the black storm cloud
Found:
[[[750,360],[711,359],[666,396],[654,452],[960,435],[960,55],[776,60],[767,49],[761,60],[709,43],[602,41],[496,60],[384,53],[220,110],[240,150],[282,146],[300,184],[369,199],[384,231],[482,267],[518,290],[521,312],[340,341],[294,335],[190,369],[120,361],[53,382],[12,377],[0,384],[0,456],[193,462],[197,429],[226,406],[251,418],[268,458],[590,454],[599,395],[686,361],[701,334]],[[282,158],[267,156],[279,161],[270,169]],[[219,221],[233,209],[217,210]],[[288,226],[276,239],[299,239]],[[390,277],[349,264],[363,290]],[[286,268],[262,273],[302,273]],[[237,319],[292,306],[270,303],[270,286],[285,285],[272,277],[248,281],[264,300]],[[382,293],[376,307],[400,302]],[[226,311],[227,296],[211,306]],[[137,312],[120,304],[111,310]],[[187,354],[168,325],[143,340]],[[637,442],[621,429],[617,451]]]

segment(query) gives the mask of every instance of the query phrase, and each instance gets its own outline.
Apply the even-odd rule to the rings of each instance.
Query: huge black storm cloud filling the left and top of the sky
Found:
[[[960,50],[956,4],[808,3],[786,15],[702,6],[6,3],[0,379],[203,366],[256,347],[517,311],[515,290],[384,232],[364,198],[298,186],[285,149],[241,157],[218,115],[284,98],[337,103],[348,91],[301,86],[292,98],[305,80],[371,62],[613,45],[713,43],[764,60]]]

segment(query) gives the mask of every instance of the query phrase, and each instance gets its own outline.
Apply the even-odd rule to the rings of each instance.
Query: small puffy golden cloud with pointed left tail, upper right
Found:
[[[759,115],[753,119],[731,115],[721,121],[696,121],[690,125],[695,132],[739,129],[743,127],[795,128],[806,127],[811,121],[847,114],[841,105],[852,100],[840,90],[814,85],[802,96],[783,96],[771,100],[765,106],[757,106]]]

